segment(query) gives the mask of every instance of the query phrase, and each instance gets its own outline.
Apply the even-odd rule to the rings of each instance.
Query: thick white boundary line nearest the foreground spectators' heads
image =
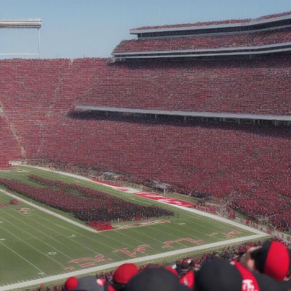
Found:
[[[123,260],[123,261],[119,261],[119,262],[115,262],[115,263],[101,265],[98,267],[93,267],[93,268],[78,270],[78,271],[69,272],[69,273],[65,273],[65,274],[54,275],[54,276],[50,276],[50,277],[46,277],[46,278],[40,278],[40,279],[36,279],[36,280],[6,285],[3,287],[0,287],[0,291],[7,291],[7,290],[18,289],[18,288],[25,288],[28,286],[40,285],[42,283],[48,283],[50,281],[62,280],[62,279],[65,279],[67,277],[70,277],[70,276],[80,276],[80,275],[85,275],[88,273],[94,273],[97,271],[101,271],[104,269],[115,268],[115,267],[118,267],[124,263],[139,263],[139,262],[143,262],[143,261],[161,259],[163,257],[169,257],[169,256],[174,256],[174,255],[184,254],[184,253],[190,253],[193,251],[203,250],[205,248],[218,247],[218,246],[222,246],[222,245],[230,244],[230,243],[237,243],[237,242],[244,242],[244,241],[248,241],[248,240],[259,239],[259,238],[262,238],[264,236],[265,236],[265,234],[263,234],[263,235],[262,234],[250,235],[250,236],[231,239],[231,240],[227,240],[227,241],[223,241],[223,242],[212,242],[212,243],[198,245],[198,246],[194,246],[194,247],[188,247],[188,248],[170,251],[170,252],[166,252],[166,253],[162,253],[162,254],[156,254],[156,255],[135,258],[135,259],[127,259],[127,260]]]

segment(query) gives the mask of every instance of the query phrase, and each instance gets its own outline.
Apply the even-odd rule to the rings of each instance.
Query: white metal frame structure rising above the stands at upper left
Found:
[[[0,55],[38,55],[40,58],[40,28],[42,21],[40,18],[28,19],[0,19],[1,29],[37,29],[38,31],[38,53],[0,53]]]

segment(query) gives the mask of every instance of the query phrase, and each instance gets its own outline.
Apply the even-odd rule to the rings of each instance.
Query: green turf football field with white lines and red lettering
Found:
[[[4,289],[6,285],[15,283],[25,285],[27,281],[80,270],[83,270],[83,273],[94,272],[92,268],[102,265],[104,268],[109,268],[110,264],[127,259],[137,259],[138,264],[142,264],[143,260],[171,261],[171,258],[182,258],[186,253],[201,252],[201,246],[205,249],[210,247],[213,249],[214,246],[209,245],[210,243],[225,245],[231,239],[242,238],[243,241],[243,237],[251,239],[249,236],[255,237],[256,235],[255,230],[245,230],[94,182],[32,167],[17,167],[21,171],[2,171],[0,178],[15,178],[36,187],[41,186],[30,181],[28,175],[34,174],[58,179],[98,189],[135,203],[156,204],[173,210],[175,216],[169,219],[168,217],[153,218],[152,220],[167,221],[155,225],[93,233],[24,202],[21,202],[20,205],[8,205],[6,208],[0,208],[0,290],[7,290]],[[1,190],[7,189],[0,187]],[[52,209],[20,194],[9,192],[33,202],[34,205],[42,206],[73,221],[78,221],[61,210]],[[181,199],[181,196],[178,198]],[[11,199],[7,194],[0,192],[0,203],[9,203]],[[27,208],[27,210],[19,210],[19,208]],[[84,225],[84,222],[78,222]],[[130,222],[125,224],[130,225]],[[200,249],[195,249],[195,247]],[[182,249],[185,248],[193,248],[193,250],[188,249],[184,252]],[[173,251],[178,250],[183,254],[174,255]],[[172,253],[167,254],[167,252]],[[151,255],[157,256],[156,258],[147,257]],[[142,257],[145,259],[140,259]],[[55,278],[52,278],[53,280]]]

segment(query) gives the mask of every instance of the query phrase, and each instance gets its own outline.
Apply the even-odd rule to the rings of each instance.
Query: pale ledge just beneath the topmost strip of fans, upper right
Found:
[[[255,20],[250,22],[237,22],[237,23],[224,23],[224,24],[211,24],[211,25],[196,25],[196,26],[185,26],[185,27],[161,27],[161,28],[148,28],[148,29],[130,29],[130,34],[139,34],[146,32],[170,32],[170,31],[186,31],[186,30],[203,30],[212,28],[228,28],[228,27],[242,27],[242,26],[256,26],[259,24],[272,23],[276,21],[283,21],[291,19],[290,15]]]

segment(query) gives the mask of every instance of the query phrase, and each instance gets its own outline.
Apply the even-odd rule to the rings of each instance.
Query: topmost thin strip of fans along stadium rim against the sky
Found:
[[[143,26],[138,28],[133,28],[132,30],[145,30],[145,29],[157,29],[157,28],[176,28],[176,27],[188,27],[188,26],[204,26],[204,25],[215,25],[215,24],[228,24],[228,23],[241,23],[241,22],[251,22],[262,19],[269,19],[279,16],[290,15],[291,11],[276,13],[266,16],[260,16],[258,18],[245,18],[245,19],[228,19],[228,20],[218,20],[218,21],[208,21],[208,22],[195,22],[195,23],[184,23],[184,24],[166,24],[157,26]]]

